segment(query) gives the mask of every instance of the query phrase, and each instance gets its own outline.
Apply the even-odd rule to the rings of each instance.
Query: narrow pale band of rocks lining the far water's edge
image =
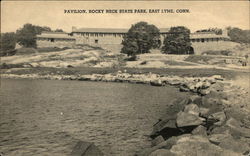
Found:
[[[149,84],[152,86],[174,85],[180,87],[180,91],[191,91],[201,95],[210,92],[209,87],[216,81],[223,78],[220,75],[211,77],[179,77],[164,76],[159,74],[129,74],[118,71],[109,74],[91,74],[91,75],[61,75],[61,74],[1,74],[2,78],[28,78],[28,79],[49,79],[49,80],[79,80],[79,81],[103,81],[103,82],[127,82],[138,84]]]

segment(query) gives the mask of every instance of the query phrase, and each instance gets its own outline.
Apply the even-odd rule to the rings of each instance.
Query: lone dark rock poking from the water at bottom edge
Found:
[[[71,156],[103,156],[104,154],[93,143],[78,141],[73,148]]]

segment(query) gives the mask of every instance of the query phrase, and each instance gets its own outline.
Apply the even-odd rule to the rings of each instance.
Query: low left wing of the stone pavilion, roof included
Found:
[[[37,35],[36,44],[38,48],[42,47],[73,47],[76,39],[65,32],[42,32]]]

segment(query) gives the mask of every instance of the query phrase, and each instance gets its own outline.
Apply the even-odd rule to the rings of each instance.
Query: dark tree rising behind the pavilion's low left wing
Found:
[[[51,31],[49,27],[41,27],[25,24],[23,28],[16,31],[17,42],[24,47],[36,47],[36,35],[42,31]]]

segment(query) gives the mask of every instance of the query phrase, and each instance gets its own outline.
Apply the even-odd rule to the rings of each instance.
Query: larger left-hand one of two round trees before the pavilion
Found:
[[[160,46],[160,31],[147,22],[139,22],[128,30],[122,42],[121,53],[135,57],[137,54],[149,53],[151,48]]]

